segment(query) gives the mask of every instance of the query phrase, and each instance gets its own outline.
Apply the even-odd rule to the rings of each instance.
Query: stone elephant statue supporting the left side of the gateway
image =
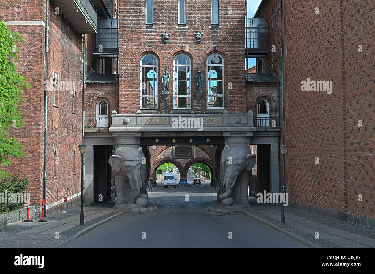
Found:
[[[115,207],[120,204],[138,204],[137,201],[141,194],[145,194],[145,164],[142,164],[144,154],[142,148],[139,147],[119,147],[114,151],[114,155],[110,157],[108,163],[110,163],[115,179],[116,196],[117,201]],[[143,177],[143,178],[142,178]],[[142,203],[141,200],[138,201]]]

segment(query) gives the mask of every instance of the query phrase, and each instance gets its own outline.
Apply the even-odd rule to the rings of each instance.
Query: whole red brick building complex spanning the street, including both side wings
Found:
[[[27,158],[14,161],[17,169],[13,165],[12,171],[31,179],[28,190],[40,207],[46,6],[44,1],[30,2],[21,1],[30,7],[25,15],[9,13],[20,2],[0,1],[0,19],[27,41],[20,47],[20,72],[33,87],[24,94],[25,126],[13,132]],[[142,147],[151,169],[151,163],[170,160],[160,157],[163,151],[192,145],[201,158],[179,161],[180,180],[186,179],[187,166],[207,161],[219,183],[224,145],[250,147],[257,154],[251,194],[282,191],[284,90],[290,204],[374,226],[374,16],[366,3],[283,1],[282,77],[279,1],[262,1],[255,18],[246,20],[241,1],[91,0],[83,1],[87,6],[80,2],[80,12],[74,14],[72,0],[47,2],[48,78],[75,81],[77,91],[77,114],[72,94],[55,91],[54,106],[53,91],[47,92],[49,210],[59,209],[63,195],[73,204],[81,195],[81,161],[74,150],[77,155],[82,139],[83,82],[86,204],[98,203],[99,194],[104,201],[115,199],[108,158],[121,146]],[[246,57],[257,58],[255,71],[246,69]],[[302,90],[302,81],[310,80],[332,80],[332,86]],[[175,128],[176,118],[202,121],[202,130]],[[148,172],[150,178],[156,168]],[[363,201],[358,201],[359,194]]]

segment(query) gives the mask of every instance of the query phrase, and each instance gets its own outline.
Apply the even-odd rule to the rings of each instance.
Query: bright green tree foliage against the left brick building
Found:
[[[23,148],[16,138],[9,138],[7,129],[23,126],[23,119],[17,105],[24,100],[22,88],[29,88],[26,79],[17,73],[14,62],[18,61],[16,43],[24,43],[18,32],[12,32],[0,21],[0,178],[9,173],[1,170],[9,166],[9,157],[23,156]]]

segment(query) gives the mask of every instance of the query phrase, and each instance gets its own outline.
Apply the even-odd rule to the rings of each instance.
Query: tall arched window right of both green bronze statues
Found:
[[[224,59],[214,53],[207,58],[207,108],[224,107]]]

